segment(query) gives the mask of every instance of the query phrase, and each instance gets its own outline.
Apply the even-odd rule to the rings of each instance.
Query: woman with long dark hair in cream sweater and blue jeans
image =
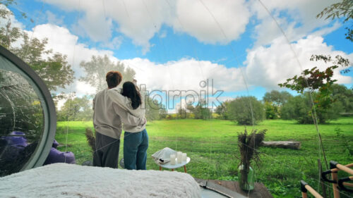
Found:
[[[145,119],[143,99],[133,82],[125,82],[123,89],[109,89],[108,96],[121,109],[140,119]],[[126,169],[146,170],[148,134],[143,125],[129,125],[123,122],[124,133],[124,166]]]

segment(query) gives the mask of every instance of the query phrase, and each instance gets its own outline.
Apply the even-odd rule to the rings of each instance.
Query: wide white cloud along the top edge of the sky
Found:
[[[94,42],[107,42],[112,31],[126,35],[133,44],[143,47],[146,53],[152,47],[150,39],[160,32],[162,25],[186,32],[201,42],[227,44],[245,31],[250,12],[244,1],[78,1],[46,0],[65,11],[83,11],[76,33],[88,35]],[[203,4],[205,6],[203,6]],[[208,11],[209,9],[209,11]],[[215,18],[213,18],[213,16]],[[113,22],[118,24],[114,28]],[[223,30],[225,35],[223,35]],[[163,37],[162,32],[161,37]]]

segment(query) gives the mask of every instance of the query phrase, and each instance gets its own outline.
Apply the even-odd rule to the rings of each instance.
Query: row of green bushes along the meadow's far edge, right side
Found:
[[[340,113],[353,113],[353,89],[334,84],[330,95],[333,102],[328,107],[317,106],[318,123],[327,123],[340,117]],[[239,125],[252,125],[264,119],[296,120],[300,124],[313,123],[311,97],[319,92],[308,92],[293,96],[286,91],[266,92],[262,101],[256,97],[239,97],[217,106],[215,113],[221,119],[233,120]],[[251,111],[252,110],[252,111]]]

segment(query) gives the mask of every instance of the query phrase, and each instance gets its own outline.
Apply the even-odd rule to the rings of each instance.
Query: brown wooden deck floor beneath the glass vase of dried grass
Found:
[[[196,182],[201,186],[201,195],[203,198],[209,197],[234,197],[244,198],[248,197],[248,192],[240,189],[239,182],[237,181],[225,181],[225,180],[201,180],[194,178]],[[263,197],[273,198],[268,192],[268,189],[262,183],[255,183],[255,189],[249,192],[250,198]]]

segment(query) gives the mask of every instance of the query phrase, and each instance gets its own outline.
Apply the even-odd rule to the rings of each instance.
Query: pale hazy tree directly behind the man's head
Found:
[[[85,70],[85,77],[80,78],[81,81],[87,82],[97,91],[107,88],[105,75],[110,70],[117,70],[123,75],[121,85],[126,81],[132,81],[135,76],[135,70],[125,67],[124,63],[111,61],[107,55],[92,56],[88,62],[82,61],[80,67]]]

